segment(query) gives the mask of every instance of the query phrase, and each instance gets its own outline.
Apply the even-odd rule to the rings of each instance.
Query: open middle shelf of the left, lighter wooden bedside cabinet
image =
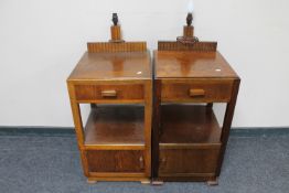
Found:
[[[85,126],[85,146],[143,146],[143,106],[100,105]]]

